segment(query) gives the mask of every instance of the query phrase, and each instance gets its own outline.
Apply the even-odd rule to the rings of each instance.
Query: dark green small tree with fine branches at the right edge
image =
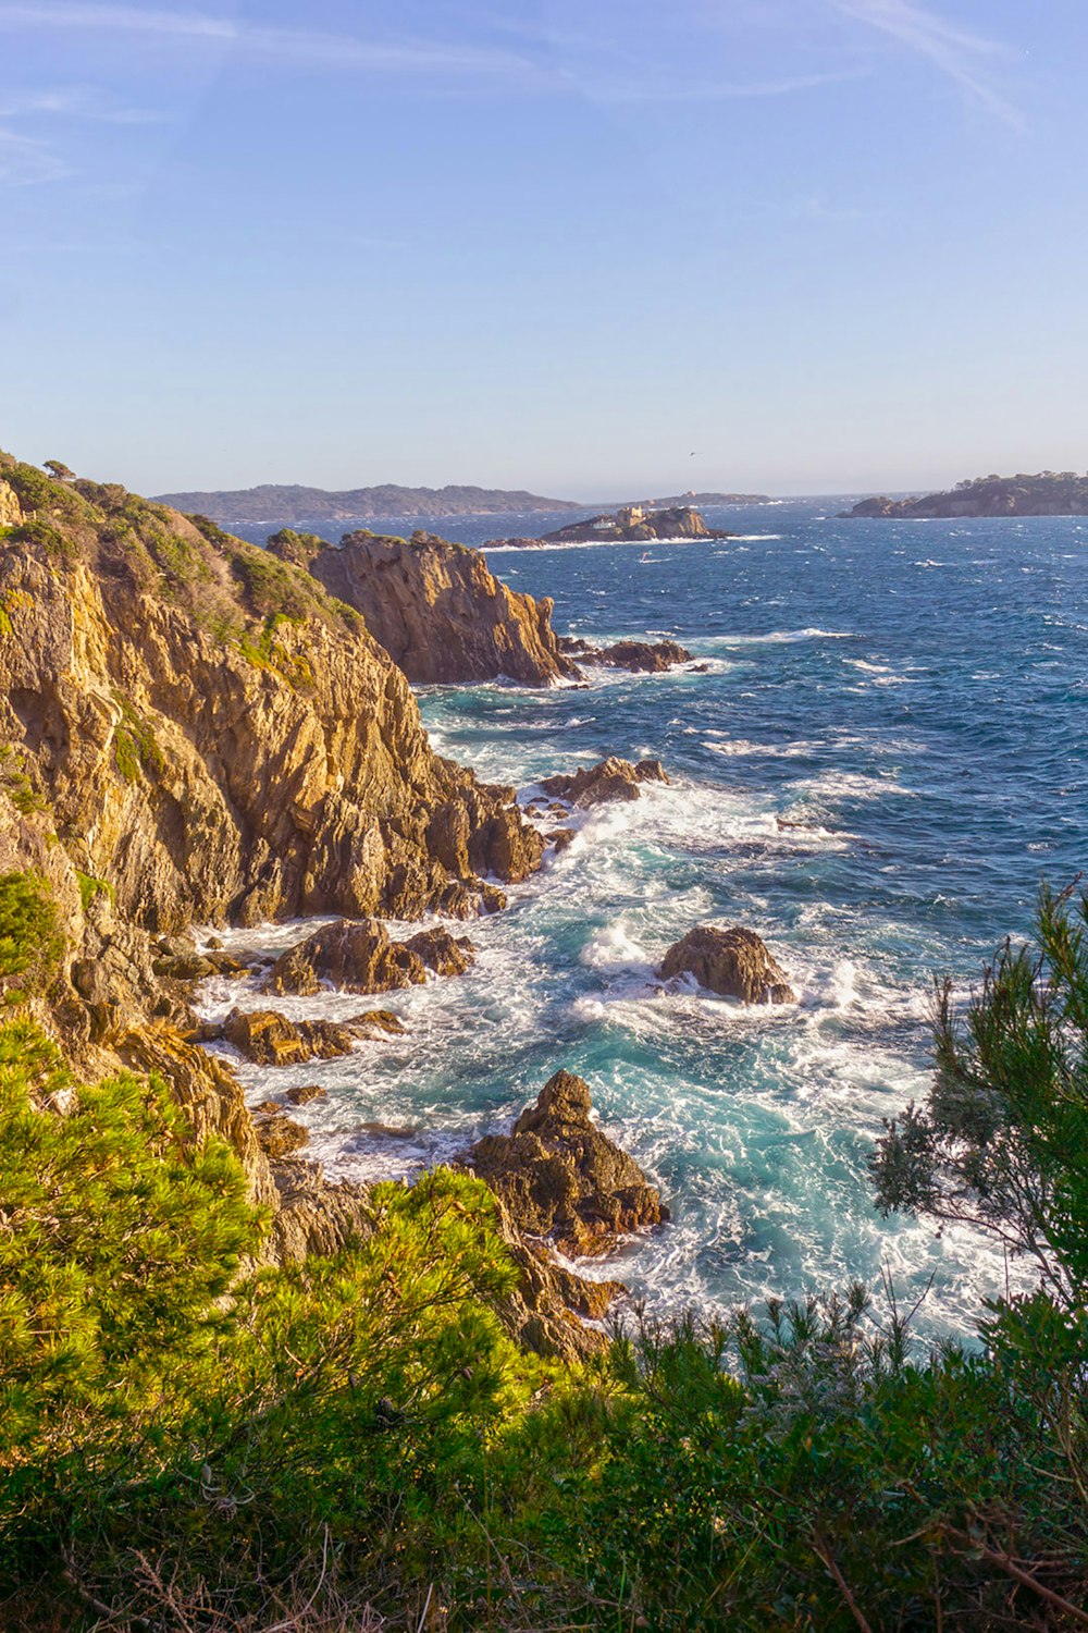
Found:
[[[964,1019],[936,990],[936,1075],[873,1161],[884,1213],[967,1223],[1088,1302],[1088,893],[1042,890],[1029,946],[1006,942]]]

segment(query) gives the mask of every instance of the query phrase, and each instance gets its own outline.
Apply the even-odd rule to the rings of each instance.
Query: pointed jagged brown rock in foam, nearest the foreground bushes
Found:
[[[556,1071],[509,1135],[488,1135],[468,1163],[502,1199],[519,1231],[568,1254],[600,1254],[620,1236],[669,1218],[638,1163],[589,1119],[589,1084]]]

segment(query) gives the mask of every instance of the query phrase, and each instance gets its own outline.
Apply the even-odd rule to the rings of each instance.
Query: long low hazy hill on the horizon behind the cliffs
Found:
[[[259,488],[235,488],[223,493],[160,493],[158,500],[186,514],[210,516],[220,527],[246,523],[375,521],[382,516],[473,516],[491,511],[586,508],[573,500],[546,500],[522,490],[401,488],[390,482],[375,488],[346,488],[341,493],[269,482]]]

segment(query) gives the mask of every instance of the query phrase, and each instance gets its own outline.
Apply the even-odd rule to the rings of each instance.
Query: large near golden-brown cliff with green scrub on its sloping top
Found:
[[[139,926],[468,916],[501,900],[475,872],[540,862],[514,792],[431,751],[401,671],[302,568],[51,485],[0,539],[0,740]]]

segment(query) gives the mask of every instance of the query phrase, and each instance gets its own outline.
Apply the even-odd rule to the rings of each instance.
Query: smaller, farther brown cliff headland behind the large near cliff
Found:
[[[375,640],[418,684],[506,676],[548,686],[577,676],[556,645],[551,599],[507,590],[478,550],[434,534],[405,541],[352,532],[313,557],[310,572],[362,612]]]

